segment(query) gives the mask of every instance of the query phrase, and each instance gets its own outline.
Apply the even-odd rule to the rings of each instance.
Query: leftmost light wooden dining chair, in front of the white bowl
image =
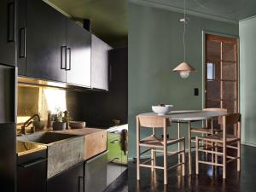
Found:
[[[160,117],[160,116],[137,116],[137,180],[140,180],[140,167],[151,168],[151,172],[155,172],[155,169],[164,170],[164,184],[167,184],[167,171],[177,166],[182,166],[182,174],[185,175],[185,139],[181,137],[179,139],[167,138],[167,126],[171,125],[171,119]],[[141,128],[151,128],[152,135],[145,138],[140,138]],[[163,130],[163,138],[157,137],[155,129]],[[180,143],[182,146],[181,150],[175,152],[168,151],[167,147],[173,144]],[[141,147],[147,149],[141,152]],[[151,151],[151,159],[144,160],[141,162],[141,155]],[[164,156],[164,166],[156,166],[155,156],[156,153],[162,153]],[[177,163],[175,166],[167,167],[167,154],[170,156],[181,154],[182,162]],[[150,163],[151,164],[148,164]]]

